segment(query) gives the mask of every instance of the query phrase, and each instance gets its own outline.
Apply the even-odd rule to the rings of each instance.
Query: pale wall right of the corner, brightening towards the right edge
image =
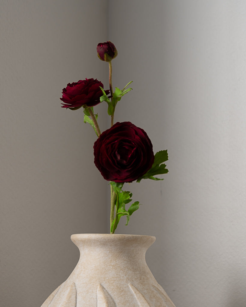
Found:
[[[244,307],[246,2],[114,0],[110,14],[114,84],[134,81],[118,120],[169,152],[164,181],[129,187],[143,206],[118,231],[156,235],[147,263],[177,307]]]

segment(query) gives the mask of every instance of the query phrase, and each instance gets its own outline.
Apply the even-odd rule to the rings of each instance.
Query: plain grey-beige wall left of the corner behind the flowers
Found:
[[[107,82],[96,52],[106,9],[101,0],[0,1],[1,307],[40,306],[77,263],[70,235],[107,232],[93,189],[104,197],[96,135],[59,99],[69,82]]]

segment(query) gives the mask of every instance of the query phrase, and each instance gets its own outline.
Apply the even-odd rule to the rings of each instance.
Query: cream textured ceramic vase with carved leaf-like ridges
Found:
[[[41,307],[175,307],[145,262],[146,235],[78,234],[77,266]]]

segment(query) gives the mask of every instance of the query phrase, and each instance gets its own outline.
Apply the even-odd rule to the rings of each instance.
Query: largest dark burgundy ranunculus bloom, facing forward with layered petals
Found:
[[[94,143],[94,163],[104,179],[132,182],[154,162],[152,143],[146,132],[131,122],[117,122]]]

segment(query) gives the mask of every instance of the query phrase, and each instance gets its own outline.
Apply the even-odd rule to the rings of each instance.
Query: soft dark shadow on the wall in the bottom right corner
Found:
[[[246,263],[244,263],[246,265]],[[245,307],[246,306],[246,269],[243,270],[230,270],[228,274],[227,289],[227,304],[226,307]]]

